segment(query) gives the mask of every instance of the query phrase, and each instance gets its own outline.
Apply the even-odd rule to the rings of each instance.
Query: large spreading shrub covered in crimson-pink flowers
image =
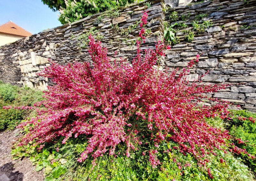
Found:
[[[228,103],[214,99],[217,103],[213,106],[198,104],[202,98],[210,99],[203,93],[225,87],[200,84],[200,78],[193,83],[186,80],[189,68],[198,62],[199,55],[175,76],[178,69],[171,74],[159,70],[159,61],[170,46],[159,41],[156,49],[141,50],[147,17],[144,12],[137,56],[132,65],[124,59],[120,63],[111,62],[107,49],[91,35],[88,51],[93,67],[89,63],[62,66],[52,62],[45,68],[40,75],[51,78],[55,85],[48,87],[46,100],[35,104],[44,107],[38,109],[38,116],[20,124],[20,128],[34,124],[21,145],[35,140],[42,148],[44,143],[56,138],[64,137],[62,143],[65,144],[72,136],[85,135],[88,143],[79,162],[89,156],[95,160],[105,153],[117,156],[117,146],[126,147],[126,156],[130,157],[139,146],[144,146],[146,151],[142,155],[149,155],[153,167],[161,164],[157,153],[163,141],[178,145],[166,152],[174,149],[184,155],[190,153],[204,166],[209,161],[204,157],[217,155],[216,149],[224,153],[247,153],[228,141],[233,138],[228,131],[214,128],[205,121],[216,116],[227,118]],[[223,157],[220,162],[224,161]],[[208,174],[212,177],[210,169]]]

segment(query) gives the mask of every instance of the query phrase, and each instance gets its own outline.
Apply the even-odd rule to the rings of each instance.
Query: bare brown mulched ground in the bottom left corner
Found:
[[[44,173],[37,172],[28,158],[12,160],[11,147],[20,130],[0,132],[0,181],[42,181]]]

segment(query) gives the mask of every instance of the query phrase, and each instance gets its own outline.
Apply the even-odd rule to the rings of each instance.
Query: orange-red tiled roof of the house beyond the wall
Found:
[[[21,28],[20,26],[16,25],[12,21],[8,21],[7,23],[0,25],[0,33],[23,36],[23,37],[32,35],[32,33]]]

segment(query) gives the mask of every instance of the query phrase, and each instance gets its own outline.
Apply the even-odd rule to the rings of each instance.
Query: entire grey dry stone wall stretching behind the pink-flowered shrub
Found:
[[[148,28],[152,34],[148,35],[143,49],[154,48],[155,42],[163,37],[164,21],[185,23],[187,28],[176,26],[180,43],[166,52],[166,67],[186,67],[196,54],[202,54],[187,79],[193,81],[209,71],[202,78],[204,83],[232,83],[227,89],[210,96],[256,112],[256,0],[213,0],[167,11],[162,0],[152,1],[151,7],[145,6],[145,2],[115,12],[95,14],[0,47],[0,80],[46,89],[51,80],[37,73],[50,65],[49,58],[60,64],[91,62],[85,46],[88,32],[102,40],[109,56],[114,57],[117,51],[117,58],[131,61],[136,55],[133,44],[139,34],[138,23],[142,11],[147,10]],[[169,16],[174,11],[178,18],[171,21]],[[193,20],[200,14],[207,16],[198,23],[208,20],[212,26],[203,33],[195,31],[193,41],[188,43],[182,30],[192,29]],[[182,16],[187,19],[182,20]]]

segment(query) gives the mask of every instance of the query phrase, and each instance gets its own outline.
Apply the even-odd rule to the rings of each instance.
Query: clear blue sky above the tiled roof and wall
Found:
[[[0,0],[0,25],[12,21],[32,34],[60,26],[59,12],[53,12],[41,0]]]

